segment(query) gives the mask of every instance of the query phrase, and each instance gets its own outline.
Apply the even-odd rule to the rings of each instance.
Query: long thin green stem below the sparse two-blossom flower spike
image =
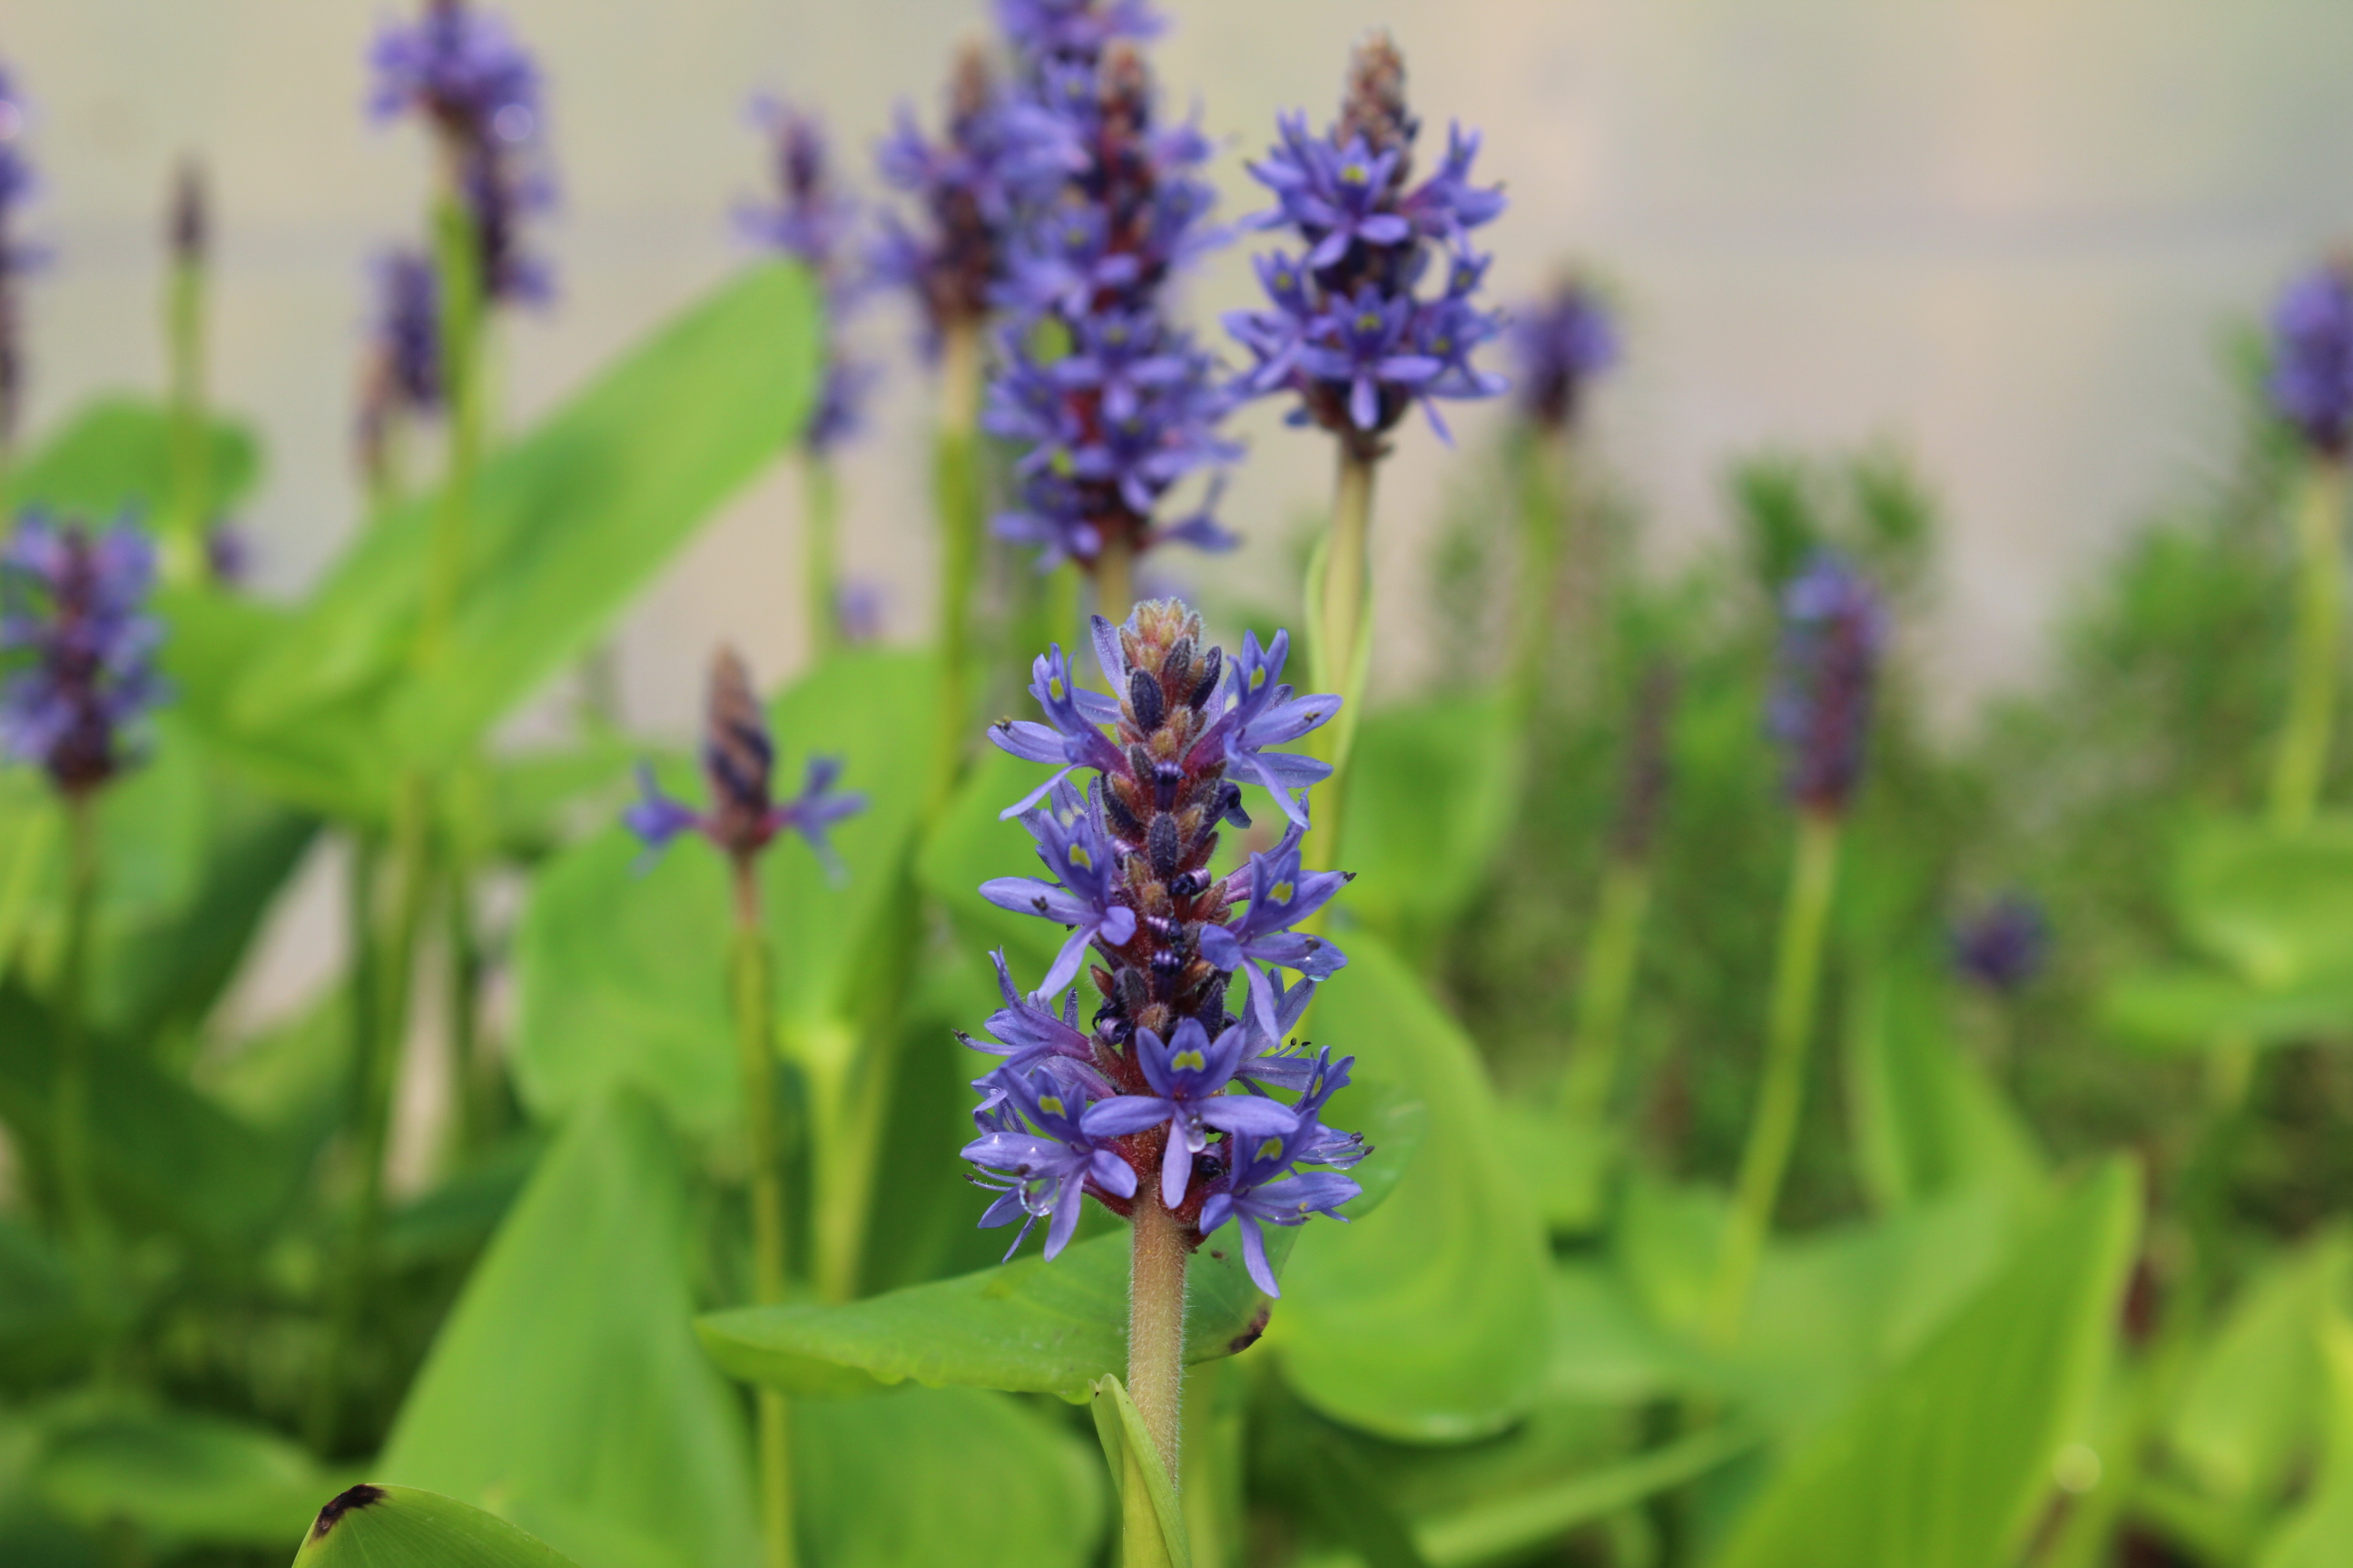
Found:
[[[734,863],[734,1016],[744,1072],[744,1143],[751,1161],[751,1276],[762,1305],[784,1300],[784,1150],[776,1138],[776,1034],[767,940],[760,931],[760,877],[751,856]],[[767,1568],[793,1568],[793,1446],[784,1394],[760,1389],[760,1535]]]

